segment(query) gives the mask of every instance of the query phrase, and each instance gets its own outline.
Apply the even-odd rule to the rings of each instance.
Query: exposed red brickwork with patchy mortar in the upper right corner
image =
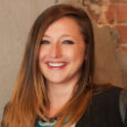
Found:
[[[127,54],[127,0],[83,0],[98,27],[116,28],[119,49]]]

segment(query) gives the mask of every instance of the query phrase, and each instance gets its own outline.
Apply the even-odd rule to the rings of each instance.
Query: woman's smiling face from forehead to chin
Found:
[[[42,39],[39,66],[46,83],[77,82],[85,60],[85,42],[80,27],[72,18],[53,22]]]

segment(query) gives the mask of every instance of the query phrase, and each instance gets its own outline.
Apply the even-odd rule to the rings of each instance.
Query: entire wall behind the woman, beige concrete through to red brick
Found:
[[[93,21],[95,82],[127,88],[127,0],[0,0],[0,121],[33,21],[57,3],[83,8]]]

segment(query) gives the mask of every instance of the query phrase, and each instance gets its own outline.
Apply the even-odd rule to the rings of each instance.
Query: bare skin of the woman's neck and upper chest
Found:
[[[49,117],[54,117],[60,113],[64,105],[70,100],[76,88],[77,82],[68,84],[47,84],[47,93],[50,98]]]

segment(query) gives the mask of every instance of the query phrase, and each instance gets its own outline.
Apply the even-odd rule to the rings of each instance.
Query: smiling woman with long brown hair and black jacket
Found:
[[[86,12],[68,4],[46,9],[30,32],[2,127],[124,127],[127,93],[95,86],[93,77]]]

